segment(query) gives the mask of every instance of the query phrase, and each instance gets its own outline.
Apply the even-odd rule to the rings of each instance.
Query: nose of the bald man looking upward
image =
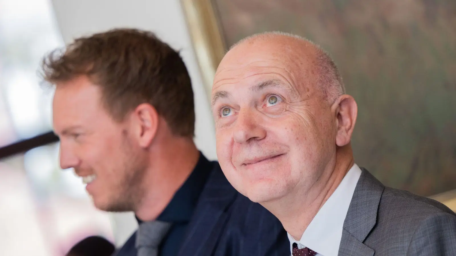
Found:
[[[239,111],[233,131],[236,143],[247,143],[249,140],[260,140],[266,137],[266,130],[260,124],[259,114],[250,109]]]

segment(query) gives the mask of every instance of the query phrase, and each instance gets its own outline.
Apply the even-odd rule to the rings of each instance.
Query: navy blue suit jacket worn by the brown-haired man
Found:
[[[236,191],[217,162],[198,199],[178,256],[284,256],[290,242],[280,221]],[[133,234],[115,256],[136,256]]]

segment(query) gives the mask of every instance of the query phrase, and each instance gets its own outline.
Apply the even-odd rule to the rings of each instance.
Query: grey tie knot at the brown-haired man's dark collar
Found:
[[[136,248],[157,248],[171,228],[171,223],[155,220],[143,222],[136,232]]]

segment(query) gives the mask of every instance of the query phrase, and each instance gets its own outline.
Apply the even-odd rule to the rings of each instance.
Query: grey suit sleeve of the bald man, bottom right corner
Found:
[[[456,216],[432,215],[420,222],[407,250],[407,256],[455,256]]]

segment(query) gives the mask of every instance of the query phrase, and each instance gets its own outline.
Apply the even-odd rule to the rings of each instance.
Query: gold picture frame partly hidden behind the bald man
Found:
[[[210,102],[212,80],[226,52],[216,8],[211,0],[181,0],[181,4]],[[456,189],[429,198],[443,203],[456,212]]]

